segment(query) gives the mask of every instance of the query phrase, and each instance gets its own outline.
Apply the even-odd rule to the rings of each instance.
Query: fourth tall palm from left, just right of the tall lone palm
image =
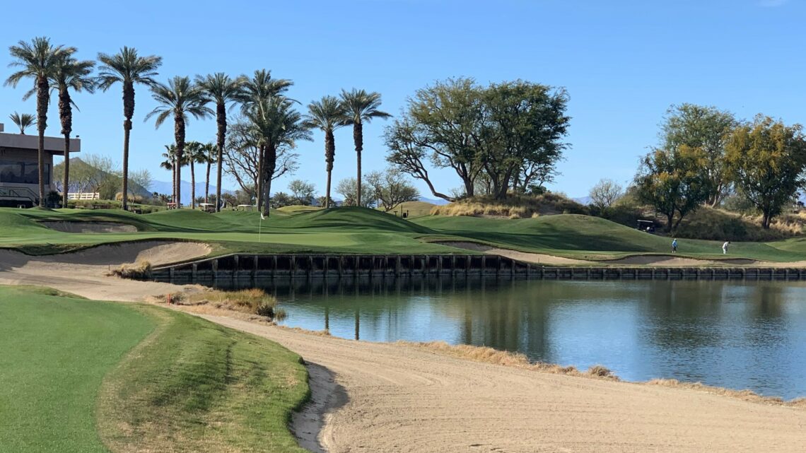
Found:
[[[206,106],[209,99],[206,98],[202,89],[193,85],[190,77],[180,76],[173,77],[168,81],[168,85],[161,83],[152,85],[152,98],[160,105],[146,115],[146,121],[152,116],[156,116],[154,126],[158,128],[169,116],[173,115],[173,135],[177,143],[177,162],[181,163],[185,160],[185,125],[188,122],[188,115],[199,119],[212,114],[213,110]],[[181,165],[177,165],[177,205],[182,202],[181,170]],[[192,203],[195,206],[195,200]]]

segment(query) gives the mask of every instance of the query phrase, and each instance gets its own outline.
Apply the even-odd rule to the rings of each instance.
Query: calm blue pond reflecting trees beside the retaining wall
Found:
[[[806,397],[806,283],[397,279],[263,285],[284,324],[348,339],[519,351],[624,380]]]

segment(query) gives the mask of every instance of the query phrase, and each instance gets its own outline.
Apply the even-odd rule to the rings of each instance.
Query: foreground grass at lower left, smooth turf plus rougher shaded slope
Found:
[[[287,425],[305,368],[266,339],[2,286],[0,331],[0,451],[304,451]]]

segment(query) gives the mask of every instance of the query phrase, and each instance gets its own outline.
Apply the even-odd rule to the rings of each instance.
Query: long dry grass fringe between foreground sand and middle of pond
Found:
[[[504,365],[506,367],[525,368],[528,370],[550,372],[552,374],[562,374],[565,376],[578,376],[578,377],[593,377],[596,379],[618,380],[618,377],[613,375],[609,369],[605,367],[597,367],[600,370],[605,370],[606,374],[597,374],[580,372],[575,367],[563,367],[557,364],[546,364],[543,362],[532,362],[526,355],[520,352],[499,351],[492,347],[486,346],[471,346],[468,344],[448,344],[443,341],[434,341],[429,343],[410,343],[405,341],[398,341],[399,344],[404,344],[412,347],[419,347],[432,352],[438,352],[445,355],[452,355],[459,359],[475,360],[476,362],[484,362],[485,364]]]

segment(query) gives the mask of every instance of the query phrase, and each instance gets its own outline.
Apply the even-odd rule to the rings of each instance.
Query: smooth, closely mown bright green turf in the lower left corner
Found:
[[[0,450],[106,451],[98,389],[155,323],[125,305],[48,293],[0,286]]]

